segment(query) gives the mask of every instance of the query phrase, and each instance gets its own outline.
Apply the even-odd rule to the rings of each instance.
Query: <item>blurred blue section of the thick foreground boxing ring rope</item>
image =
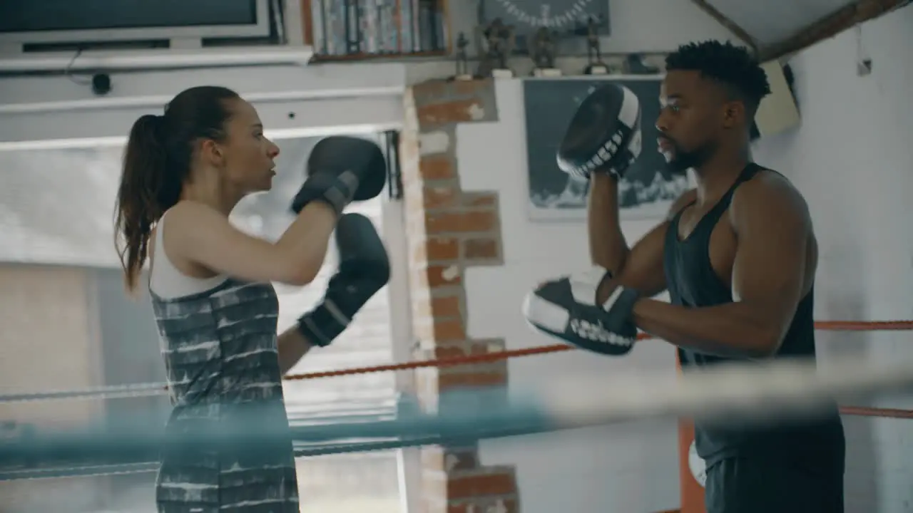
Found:
[[[0,442],[0,481],[51,476],[130,473],[157,468],[163,450],[229,446],[232,452],[257,451],[270,441],[289,438],[300,457],[378,451],[415,445],[456,445],[483,438],[532,434],[549,430],[538,408],[514,402],[492,403],[485,395],[452,397],[446,414],[422,414],[404,408],[399,415],[362,417],[328,424],[291,425],[270,429],[250,415],[247,426],[224,425],[184,434],[169,434],[148,426],[123,426],[69,433],[37,432]],[[221,428],[221,429],[219,429]],[[10,468],[13,465],[13,468]],[[3,468],[6,466],[6,468]],[[127,469],[127,470],[124,470]]]

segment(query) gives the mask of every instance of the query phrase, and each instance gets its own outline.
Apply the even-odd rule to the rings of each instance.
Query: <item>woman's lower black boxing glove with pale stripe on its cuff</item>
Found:
[[[390,279],[390,260],[370,219],[342,215],[336,225],[340,265],[320,304],[298,319],[310,343],[325,347],[340,336],[368,299]]]

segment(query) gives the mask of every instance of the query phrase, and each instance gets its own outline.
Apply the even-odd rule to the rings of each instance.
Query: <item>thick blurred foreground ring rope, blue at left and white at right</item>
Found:
[[[593,393],[593,391],[599,391]],[[446,445],[485,438],[537,434],[577,427],[687,417],[731,423],[766,422],[813,414],[836,401],[859,400],[884,393],[913,391],[913,361],[882,365],[858,359],[831,361],[754,361],[670,376],[650,372],[604,380],[542,383],[507,404],[491,408],[478,401],[484,393],[463,394],[439,414],[413,414],[395,420],[292,426],[297,442],[323,449],[296,450],[297,455],[376,450],[409,445]],[[474,399],[475,397],[475,399]],[[149,454],[163,445],[212,444],[222,440],[256,444],[271,436],[256,430],[182,435],[163,432],[89,431],[37,433],[0,443],[0,461],[39,455]],[[369,442],[362,442],[369,440]],[[136,464],[140,465],[140,464]],[[151,464],[132,471],[148,471]],[[119,471],[123,467],[127,470]],[[90,470],[88,467],[80,467]],[[129,473],[130,465],[100,466]],[[16,478],[16,470],[6,478]],[[30,474],[29,474],[30,473]],[[41,472],[27,471],[34,478]],[[83,474],[85,475],[85,474]]]

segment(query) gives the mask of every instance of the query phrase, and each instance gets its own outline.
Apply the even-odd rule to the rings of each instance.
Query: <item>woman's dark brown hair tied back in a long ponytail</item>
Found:
[[[147,114],[133,123],[114,220],[115,246],[129,291],[137,288],[152,225],[181,197],[194,142],[225,137],[225,123],[231,117],[227,100],[237,98],[235,91],[226,88],[186,89],[168,104],[163,116]]]

